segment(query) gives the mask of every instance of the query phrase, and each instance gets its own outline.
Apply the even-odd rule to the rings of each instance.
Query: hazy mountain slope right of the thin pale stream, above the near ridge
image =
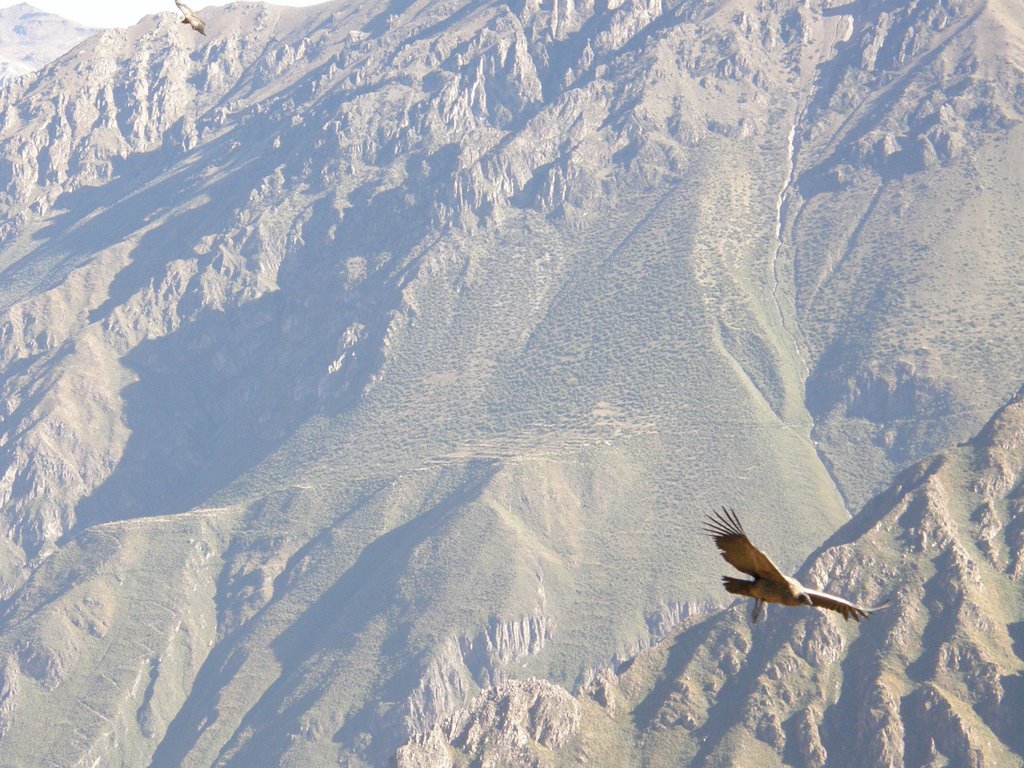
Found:
[[[1020,385],[1022,41],[1014,3],[869,3],[796,124],[783,263],[854,508]]]

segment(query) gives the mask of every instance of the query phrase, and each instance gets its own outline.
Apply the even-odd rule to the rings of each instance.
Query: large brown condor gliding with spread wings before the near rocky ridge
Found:
[[[829,595],[826,592],[804,587],[796,579],[784,575],[764,552],[759,550],[746,538],[739,518],[731,509],[722,507],[722,513],[707,515],[705,532],[715,540],[725,561],[737,570],[754,577],[753,582],[732,577],[722,577],[722,583],[727,592],[733,595],[745,595],[754,598],[754,610],[751,618],[758,623],[765,603],[781,603],[782,605],[812,605],[817,608],[828,608],[843,614],[843,618],[856,621],[866,618],[869,613],[881,610],[888,602],[864,608],[854,605],[842,597]]]

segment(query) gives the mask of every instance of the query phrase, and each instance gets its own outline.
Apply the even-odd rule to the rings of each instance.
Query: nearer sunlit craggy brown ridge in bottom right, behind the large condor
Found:
[[[970,443],[901,473],[801,570],[890,608],[860,625],[775,608],[751,625],[742,601],[691,620],[599,676],[573,740],[541,750],[543,764],[1021,765],[1022,437],[1024,390]]]

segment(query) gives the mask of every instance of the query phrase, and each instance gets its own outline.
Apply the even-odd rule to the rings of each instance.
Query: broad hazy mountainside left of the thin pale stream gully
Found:
[[[872,10],[239,3],[7,85],[0,760],[380,765],[720,599],[722,501],[796,567],[898,458],[787,298]]]

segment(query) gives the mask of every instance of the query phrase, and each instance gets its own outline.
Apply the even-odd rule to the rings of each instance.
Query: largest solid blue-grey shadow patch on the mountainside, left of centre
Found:
[[[327,214],[329,218],[330,214]],[[131,437],[118,467],[79,506],[83,524],[182,512],[255,466],[317,413],[353,407],[381,362],[400,289],[387,267],[348,295],[329,256],[306,252],[281,290],[203,311],[123,361]],[[329,373],[346,329],[361,334]]]

